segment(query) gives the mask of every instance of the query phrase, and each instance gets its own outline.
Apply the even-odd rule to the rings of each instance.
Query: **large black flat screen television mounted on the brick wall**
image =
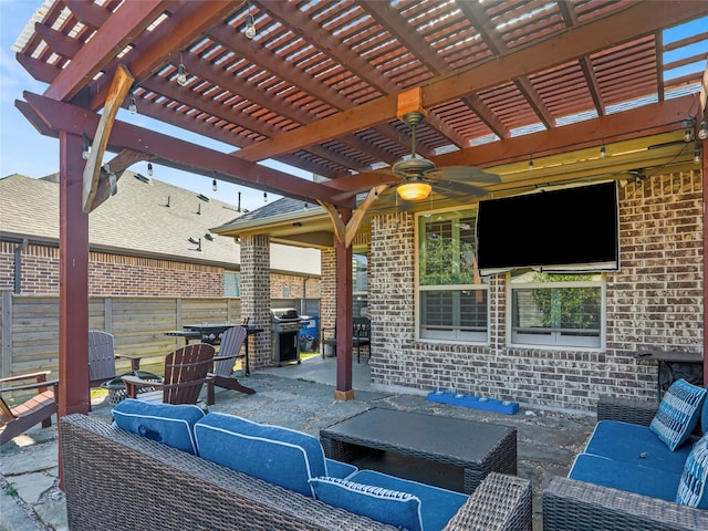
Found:
[[[618,219],[614,181],[480,201],[478,267],[616,270]]]

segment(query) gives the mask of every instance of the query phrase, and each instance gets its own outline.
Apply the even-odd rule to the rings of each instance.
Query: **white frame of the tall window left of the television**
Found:
[[[436,215],[452,216],[455,212],[469,214],[476,216],[476,208],[452,208],[447,210],[436,210],[416,214],[415,217],[415,339],[416,341],[425,341],[429,343],[465,343],[465,344],[489,344],[489,320],[490,320],[490,304],[489,304],[489,282],[485,281],[481,284],[435,284],[435,285],[421,285],[420,284],[420,218]],[[460,215],[459,218],[466,216]],[[457,240],[459,242],[459,239]],[[485,330],[476,330],[470,326],[460,326],[455,323],[449,325],[430,325],[424,326],[423,324],[423,293],[424,292],[439,292],[448,291],[452,293],[460,293],[462,291],[485,291],[487,298],[487,326]],[[459,314],[459,305],[454,309]]]

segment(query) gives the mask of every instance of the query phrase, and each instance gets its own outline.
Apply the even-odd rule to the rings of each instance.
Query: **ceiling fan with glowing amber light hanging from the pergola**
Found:
[[[410,157],[395,163],[389,171],[397,178],[396,192],[404,201],[426,199],[435,188],[437,194],[447,197],[483,196],[483,185],[501,183],[498,175],[475,166],[447,166],[437,168],[435,163],[416,154],[416,127],[425,115],[419,111],[406,113],[403,122],[410,127]]]

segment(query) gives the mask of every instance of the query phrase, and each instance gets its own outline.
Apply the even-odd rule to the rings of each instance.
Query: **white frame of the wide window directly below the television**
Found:
[[[591,350],[602,351],[606,345],[607,335],[607,283],[605,275],[600,274],[597,281],[559,281],[559,282],[523,282],[512,283],[511,273],[507,273],[507,344],[509,346],[548,347],[559,350]],[[597,335],[579,335],[574,331],[559,329],[538,329],[534,331],[517,331],[513,327],[513,291],[533,289],[561,289],[563,288],[598,288],[601,296],[600,332]]]

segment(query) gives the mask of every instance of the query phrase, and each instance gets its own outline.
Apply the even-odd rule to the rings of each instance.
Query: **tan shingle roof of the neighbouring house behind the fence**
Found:
[[[126,171],[118,192],[90,214],[92,249],[148,256],[235,269],[240,246],[233,238],[210,232],[238,218],[236,207],[156,179],[145,183]],[[206,199],[206,198],[205,198]],[[0,231],[35,241],[59,241],[56,176],[34,179],[11,175],[0,179]],[[201,239],[201,251],[197,251]],[[319,252],[271,246],[271,268],[320,274]]]

